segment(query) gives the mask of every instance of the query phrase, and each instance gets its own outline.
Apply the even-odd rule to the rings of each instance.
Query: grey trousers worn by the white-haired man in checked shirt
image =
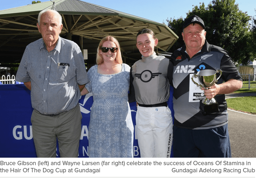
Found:
[[[77,158],[81,136],[79,104],[57,116],[46,116],[34,110],[31,116],[32,133],[38,158],[55,158],[58,138],[60,156]]]

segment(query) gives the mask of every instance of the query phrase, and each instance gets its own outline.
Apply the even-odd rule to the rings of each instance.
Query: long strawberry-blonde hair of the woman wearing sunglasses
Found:
[[[100,50],[101,50],[100,48],[102,47],[102,45],[105,41],[112,41],[117,46],[118,49],[116,52],[117,56],[115,57],[115,62],[122,64],[123,63],[122,54],[121,54],[120,45],[119,45],[117,39],[113,36],[106,36],[100,41],[100,44],[97,48],[97,58],[96,58],[97,65],[102,64],[104,62],[103,56],[100,54]]]

